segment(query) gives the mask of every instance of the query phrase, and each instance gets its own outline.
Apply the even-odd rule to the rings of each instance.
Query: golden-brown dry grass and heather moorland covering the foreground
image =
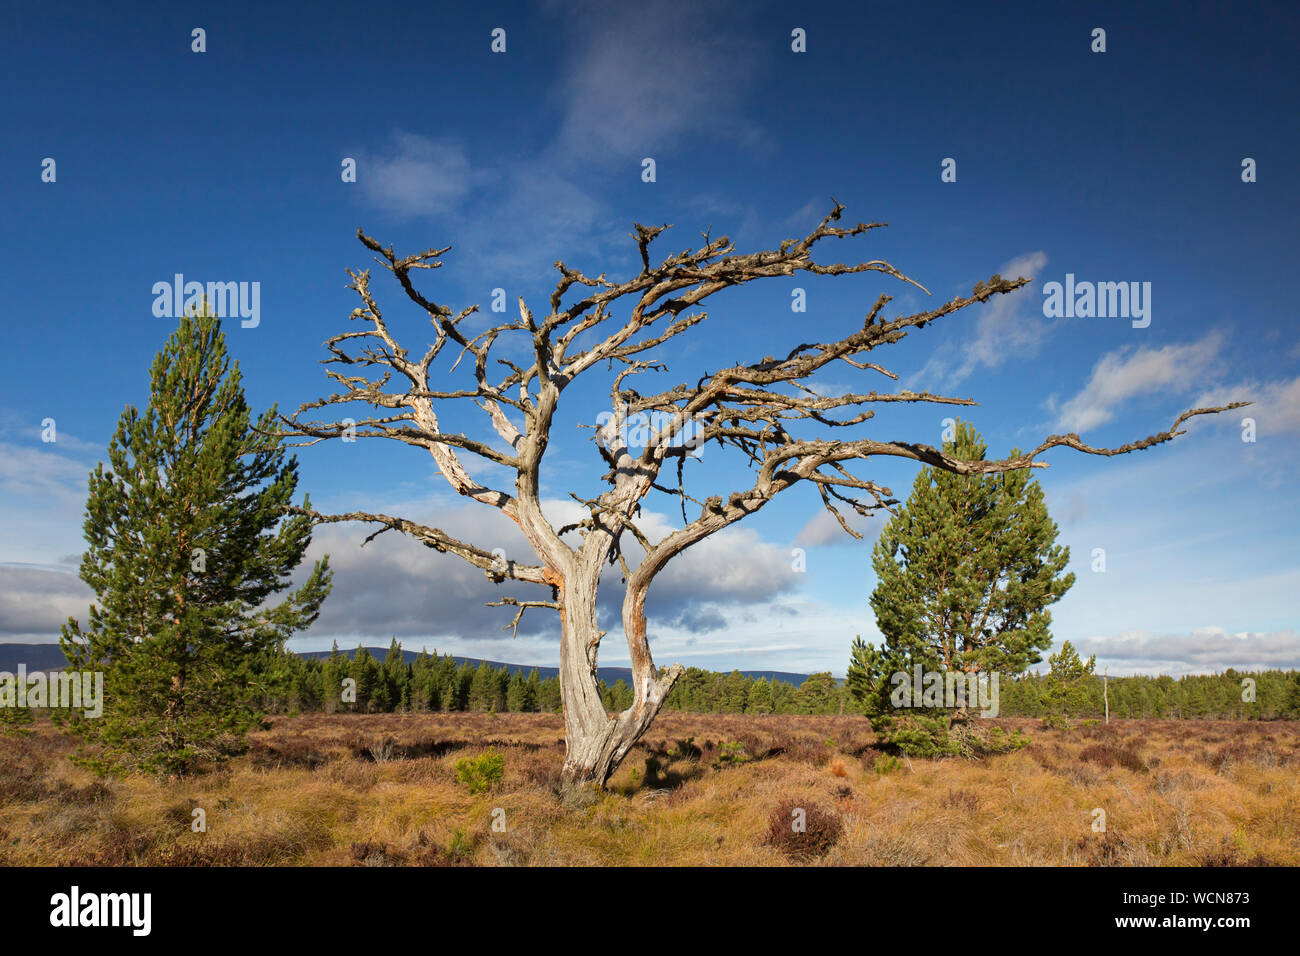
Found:
[[[671,713],[603,793],[558,790],[552,715],[276,718],[179,782],[100,780],[38,726],[0,737],[0,864],[1300,865],[1300,723],[997,723],[1034,743],[896,765],[861,718]],[[455,763],[488,748],[474,796]],[[815,852],[774,838],[792,808]]]

